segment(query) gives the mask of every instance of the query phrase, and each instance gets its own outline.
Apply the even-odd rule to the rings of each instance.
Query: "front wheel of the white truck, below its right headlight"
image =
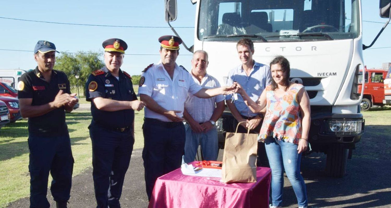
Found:
[[[346,162],[349,149],[342,144],[332,145],[327,150],[326,174],[330,177],[342,178],[346,173]]]

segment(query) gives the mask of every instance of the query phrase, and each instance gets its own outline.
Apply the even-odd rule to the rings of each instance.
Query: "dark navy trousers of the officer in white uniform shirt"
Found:
[[[182,122],[145,118],[143,135],[145,188],[148,199],[151,199],[156,179],[181,167],[185,151],[185,125]]]

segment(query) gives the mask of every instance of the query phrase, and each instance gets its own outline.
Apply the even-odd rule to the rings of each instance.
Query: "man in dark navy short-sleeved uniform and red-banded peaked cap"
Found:
[[[105,66],[91,73],[86,100],[91,102],[92,167],[97,207],[120,207],[125,173],[133,150],[134,110],[142,110],[131,76],[122,71],[127,44],[118,38],[102,44]]]

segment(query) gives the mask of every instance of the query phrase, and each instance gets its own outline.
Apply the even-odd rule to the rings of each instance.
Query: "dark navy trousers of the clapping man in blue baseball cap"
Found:
[[[30,208],[46,208],[49,172],[53,181],[50,191],[54,201],[66,202],[70,197],[74,159],[68,133],[63,136],[29,135]]]

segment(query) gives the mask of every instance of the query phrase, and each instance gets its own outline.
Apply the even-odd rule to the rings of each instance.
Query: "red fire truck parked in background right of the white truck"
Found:
[[[362,75],[362,70],[360,70]],[[367,69],[365,68],[364,80],[364,96],[361,100],[361,110],[367,111],[373,105],[383,106],[384,100],[384,79],[386,78],[386,69]],[[360,76],[362,77],[362,76]],[[362,82],[362,78],[359,79]],[[358,93],[362,90],[362,85],[359,85]]]

